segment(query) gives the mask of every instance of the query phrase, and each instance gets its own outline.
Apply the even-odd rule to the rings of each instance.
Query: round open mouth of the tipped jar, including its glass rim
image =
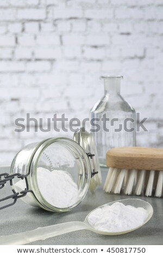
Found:
[[[33,187],[37,200],[48,210],[67,211],[85,197],[90,163],[84,150],[67,138],[51,139],[36,152]]]

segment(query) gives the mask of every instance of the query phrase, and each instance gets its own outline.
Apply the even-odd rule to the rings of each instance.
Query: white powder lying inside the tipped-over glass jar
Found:
[[[37,168],[37,184],[42,197],[57,208],[68,208],[79,200],[78,186],[72,175],[64,170],[50,172]],[[18,191],[24,190],[24,180],[16,182],[15,187]]]

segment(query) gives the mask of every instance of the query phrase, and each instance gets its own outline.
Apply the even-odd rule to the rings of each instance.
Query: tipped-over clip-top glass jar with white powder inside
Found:
[[[85,134],[81,129],[74,138],[84,137]],[[12,188],[16,193],[24,188],[30,191],[22,197],[29,205],[57,212],[73,209],[84,199],[91,180],[94,180],[91,191],[101,184],[98,157],[94,155],[95,144],[87,145],[87,150],[92,149],[92,154],[73,139],[64,137],[49,138],[27,145],[14,157],[10,169],[10,175],[19,173],[26,176],[26,179],[14,178]],[[76,197],[72,194],[70,185],[76,192]]]

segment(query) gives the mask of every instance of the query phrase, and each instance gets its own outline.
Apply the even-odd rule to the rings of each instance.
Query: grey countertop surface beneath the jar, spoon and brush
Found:
[[[5,171],[7,170],[5,169]],[[0,173],[2,172],[4,172],[4,169],[0,168]],[[106,173],[107,170],[103,169],[103,182]],[[7,196],[9,188],[0,190],[0,193],[0,198]],[[37,209],[18,199],[15,205],[0,211],[0,235],[19,233],[58,223],[84,221],[86,215],[98,206],[124,198],[129,198],[129,196],[108,194],[102,190],[102,187],[99,187],[94,194],[88,192],[83,202],[77,208],[63,213]],[[88,230],[79,230],[52,237],[45,241],[36,241],[30,243],[30,245],[163,245],[163,199],[143,196],[136,198],[151,203],[154,214],[147,224],[131,233],[104,236]]]

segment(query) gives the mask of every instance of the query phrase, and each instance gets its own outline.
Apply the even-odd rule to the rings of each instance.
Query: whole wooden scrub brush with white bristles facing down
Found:
[[[114,148],[106,153],[106,164],[105,192],[163,196],[163,149]]]

